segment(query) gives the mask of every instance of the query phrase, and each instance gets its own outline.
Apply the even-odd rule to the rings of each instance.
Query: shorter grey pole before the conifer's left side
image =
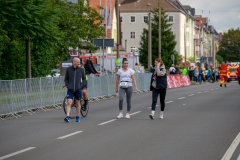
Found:
[[[152,24],[151,13],[148,14],[148,68],[152,65]]]

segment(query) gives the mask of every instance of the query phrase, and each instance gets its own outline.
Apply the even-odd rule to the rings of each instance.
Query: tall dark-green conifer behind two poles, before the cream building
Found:
[[[152,64],[154,60],[158,58],[158,24],[159,24],[159,9],[155,8],[152,11]],[[168,23],[168,15],[161,8],[161,58],[166,66],[169,68],[172,64],[171,55],[175,56],[174,63],[177,64],[179,61],[179,54],[175,50],[177,42],[175,36],[171,31],[172,24]],[[146,22],[148,24],[148,22]],[[148,30],[143,29],[141,35],[140,48],[139,48],[139,60],[147,68],[148,66]]]

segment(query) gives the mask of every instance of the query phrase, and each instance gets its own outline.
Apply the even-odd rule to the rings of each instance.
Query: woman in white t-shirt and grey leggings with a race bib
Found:
[[[132,69],[128,68],[128,60],[127,58],[123,58],[122,61],[122,69],[119,69],[117,72],[117,80],[116,80],[116,93],[118,92],[118,83],[120,81],[119,88],[119,115],[117,118],[122,118],[122,109],[123,109],[123,100],[124,95],[126,93],[127,97],[127,114],[125,118],[130,118],[130,110],[131,110],[131,98],[132,98],[132,81],[135,85],[135,90],[138,92],[136,80],[134,77],[134,72]]]

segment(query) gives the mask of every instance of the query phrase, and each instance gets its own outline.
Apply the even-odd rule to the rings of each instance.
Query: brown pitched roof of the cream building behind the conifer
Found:
[[[119,0],[120,4],[120,12],[128,13],[128,12],[150,12],[154,8],[160,6],[164,9],[164,11],[168,12],[181,12],[181,10],[170,2],[170,0]]]

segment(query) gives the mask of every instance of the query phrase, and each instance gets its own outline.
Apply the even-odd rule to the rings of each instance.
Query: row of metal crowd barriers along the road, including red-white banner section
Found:
[[[148,91],[151,73],[137,73],[135,79],[140,92]],[[88,75],[88,98],[102,99],[116,95],[116,74]],[[191,85],[188,75],[170,75],[168,88]],[[66,96],[64,77],[43,77],[0,81],[0,118],[21,117],[18,113],[32,114],[36,110],[46,110],[47,106],[58,107]],[[134,87],[134,85],[133,85]],[[135,87],[134,87],[135,88]]]

